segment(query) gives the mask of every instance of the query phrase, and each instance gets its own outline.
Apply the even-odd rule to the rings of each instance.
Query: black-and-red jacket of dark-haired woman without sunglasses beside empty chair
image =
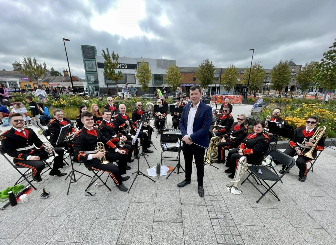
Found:
[[[269,146],[268,136],[264,133],[254,134],[250,132],[242,141],[239,149],[243,150],[244,155],[253,156],[254,158],[261,157]]]

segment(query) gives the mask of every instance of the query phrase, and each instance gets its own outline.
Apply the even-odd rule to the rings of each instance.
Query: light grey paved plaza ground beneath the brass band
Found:
[[[238,114],[249,114],[251,107],[234,105],[232,114],[236,119]],[[169,121],[171,124],[170,116]],[[43,135],[39,137],[46,141]],[[160,137],[155,138],[155,133],[153,142],[157,150],[152,147],[154,153],[147,158],[151,167],[161,156]],[[89,177],[71,184],[67,196],[69,179],[46,173],[42,182],[33,182],[37,191],[29,194],[28,203],[0,211],[0,244],[336,244],[335,155],[335,150],[327,148],[305,182],[298,181],[294,166],[283,177],[284,183],[274,188],[280,201],[267,194],[259,203],[256,200],[261,194],[250,183],[244,183],[242,195],[226,190],[230,179],[222,164],[214,164],[219,169],[205,167],[204,198],[198,195],[195,166],[191,184],[183,188],[176,185],[184,179],[184,173],[173,173],[168,179],[153,177],[155,183],[139,176],[129,194],[119,191],[109,179],[112,191],[93,186],[93,197],[84,192]],[[131,178],[124,182],[128,188],[136,163],[129,164]],[[169,161],[162,164],[175,166]],[[184,167],[183,154],[181,165]],[[147,172],[143,157],[139,166]],[[75,163],[74,167],[92,175],[83,164]],[[3,190],[13,185],[19,175],[3,157],[1,169]],[[61,171],[69,173],[71,167]],[[42,188],[50,192],[49,198],[40,197]]]

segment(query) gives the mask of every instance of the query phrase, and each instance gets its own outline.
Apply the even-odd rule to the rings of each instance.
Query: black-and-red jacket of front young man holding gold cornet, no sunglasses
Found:
[[[76,132],[74,137],[74,144],[75,157],[77,158],[77,160],[85,161],[90,165],[90,161],[87,161],[87,157],[89,154],[94,153],[86,154],[84,152],[94,151],[97,146],[97,142],[102,142],[105,145],[106,151],[115,151],[115,149],[117,149],[117,147],[109,139],[105,138],[104,135],[102,135],[102,133],[97,128],[92,128],[89,131],[85,127],[83,127],[82,130]],[[92,163],[93,162],[95,161],[92,161]]]

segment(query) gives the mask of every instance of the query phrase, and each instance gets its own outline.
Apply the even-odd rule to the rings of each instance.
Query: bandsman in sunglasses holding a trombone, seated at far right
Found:
[[[311,147],[314,145],[310,138],[314,135],[316,131],[315,125],[319,122],[319,117],[317,116],[309,116],[306,120],[306,126],[305,127],[299,127],[294,130],[294,138],[289,140],[289,146],[284,151],[285,154],[288,156],[293,157],[295,154],[297,154],[299,157],[296,159],[296,165],[299,168],[299,180],[304,182],[307,178],[307,162],[310,162],[312,159],[303,156],[302,154],[307,153]],[[305,144],[301,147],[304,138],[306,138]],[[318,141],[316,149],[313,150],[312,156],[316,158],[317,151],[323,151],[324,150],[324,141],[325,141],[325,135],[321,137],[321,139]],[[306,146],[306,149],[303,150],[303,148]],[[282,170],[279,171],[279,173],[283,174],[285,172],[286,166],[283,165]]]

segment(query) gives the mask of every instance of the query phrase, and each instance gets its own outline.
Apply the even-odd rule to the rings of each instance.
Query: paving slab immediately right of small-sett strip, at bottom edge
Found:
[[[237,226],[246,245],[276,245],[271,234],[264,226]],[[279,243],[284,244],[284,243]]]

